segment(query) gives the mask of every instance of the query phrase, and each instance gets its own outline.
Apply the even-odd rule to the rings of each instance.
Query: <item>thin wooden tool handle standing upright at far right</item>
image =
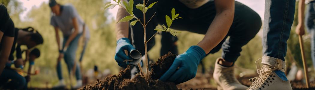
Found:
[[[307,72],[307,65],[305,61],[305,55],[304,55],[304,48],[303,48],[303,37],[299,35],[299,42],[300,42],[300,48],[301,48],[301,54],[302,54],[302,61],[303,61],[303,68],[304,68],[304,75],[305,75],[305,82],[306,82],[306,88],[309,88],[310,82],[308,79],[308,72]]]

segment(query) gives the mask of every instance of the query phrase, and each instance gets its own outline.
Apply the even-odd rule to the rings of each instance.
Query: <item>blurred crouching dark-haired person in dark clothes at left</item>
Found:
[[[15,34],[14,34],[14,43],[11,48],[11,53],[9,55],[9,60],[6,62],[5,69],[3,70],[3,73],[0,76],[0,86],[4,86],[3,88],[6,89],[22,89],[26,88],[26,79],[25,77],[18,74],[13,68],[11,68],[11,65],[14,64],[15,68],[21,68],[24,67],[24,62],[22,59],[22,50],[21,45],[25,45],[28,50],[26,50],[26,60],[33,59],[32,56],[33,53],[30,55],[31,52],[29,52],[29,49],[42,44],[43,43],[43,37],[32,27],[19,29],[15,28]],[[16,45],[17,44],[17,45]],[[14,51],[16,60],[14,60]],[[31,56],[31,57],[30,57]],[[9,81],[11,79],[11,81]]]

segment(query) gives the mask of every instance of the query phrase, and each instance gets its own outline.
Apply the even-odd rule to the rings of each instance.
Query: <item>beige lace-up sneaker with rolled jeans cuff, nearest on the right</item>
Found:
[[[252,85],[247,90],[292,90],[290,82],[284,75],[285,62],[283,60],[263,56],[261,69],[257,63],[258,60],[255,63],[259,77],[250,79]],[[280,72],[280,74],[278,75],[276,72]],[[281,74],[282,72],[283,74]]]

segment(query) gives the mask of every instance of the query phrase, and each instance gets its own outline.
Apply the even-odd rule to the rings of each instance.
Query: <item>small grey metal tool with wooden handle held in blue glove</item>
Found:
[[[128,56],[128,50],[125,50],[125,54]],[[124,62],[127,63],[129,61],[130,64],[138,65],[140,72],[142,72],[142,67],[140,65],[142,55],[138,50],[131,50],[129,53],[132,60],[125,60]]]

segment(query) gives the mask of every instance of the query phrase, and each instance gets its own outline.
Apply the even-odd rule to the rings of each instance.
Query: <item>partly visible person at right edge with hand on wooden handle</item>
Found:
[[[305,5],[307,7],[306,15],[304,15]],[[311,57],[315,69],[315,0],[299,0],[298,22],[295,33],[301,36],[304,35],[304,26],[306,26],[306,30],[311,35]]]

